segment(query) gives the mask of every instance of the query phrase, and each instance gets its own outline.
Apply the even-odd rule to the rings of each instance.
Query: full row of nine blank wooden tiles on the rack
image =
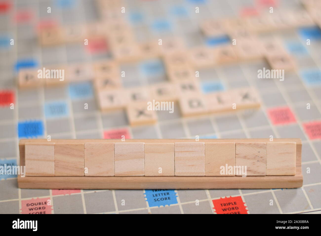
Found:
[[[247,175],[295,175],[296,144],[85,143],[26,144],[29,176],[221,176],[246,166]],[[231,170],[231,169],[230,169]]]

